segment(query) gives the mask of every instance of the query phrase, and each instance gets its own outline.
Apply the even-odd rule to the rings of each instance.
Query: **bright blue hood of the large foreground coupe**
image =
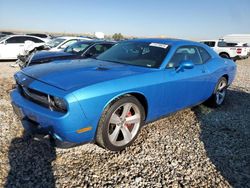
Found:
[[[22,70],[29,77],[65,91],[149,71],[150,68],[95,59],[64,60]]]

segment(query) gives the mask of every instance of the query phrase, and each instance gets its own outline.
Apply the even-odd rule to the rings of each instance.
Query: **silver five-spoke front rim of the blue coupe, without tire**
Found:
[[[124,103],[111,115],[108,138],[115,146],[124,146],[136,136],[140,129],[141,114],[134,103]]]

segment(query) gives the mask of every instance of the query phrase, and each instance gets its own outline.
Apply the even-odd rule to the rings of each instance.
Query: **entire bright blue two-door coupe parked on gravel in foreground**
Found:
[[[220,106],[235,73],[233,61],[204,44],[135,39],[96,58],[27,67],[15,74],[11,99],[28,132],[61,147],[120,151],[145,123],[203,102]]]

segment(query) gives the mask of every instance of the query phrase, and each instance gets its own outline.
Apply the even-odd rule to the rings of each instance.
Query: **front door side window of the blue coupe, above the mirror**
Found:
[[[169,61],[167,67],[178,67],[182,61],[192,61],[194,64],[202,64],[198,49],[193,46],[178,48]]]

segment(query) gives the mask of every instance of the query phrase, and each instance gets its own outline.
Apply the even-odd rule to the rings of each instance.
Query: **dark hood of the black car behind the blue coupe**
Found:
[[[40,51],[33,55],[32,61],[42,60],[42,59],[53,59],[58,57],[73,57],[74,54],[67,52],[50,52],[50,51]]]

